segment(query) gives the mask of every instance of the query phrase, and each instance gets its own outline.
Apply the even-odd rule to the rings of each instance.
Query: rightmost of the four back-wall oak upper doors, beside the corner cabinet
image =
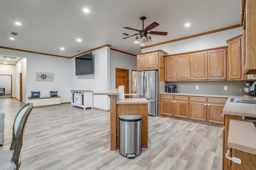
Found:
[[[208,80],[226,79],[226,52],[227,49],[207,52]]]

